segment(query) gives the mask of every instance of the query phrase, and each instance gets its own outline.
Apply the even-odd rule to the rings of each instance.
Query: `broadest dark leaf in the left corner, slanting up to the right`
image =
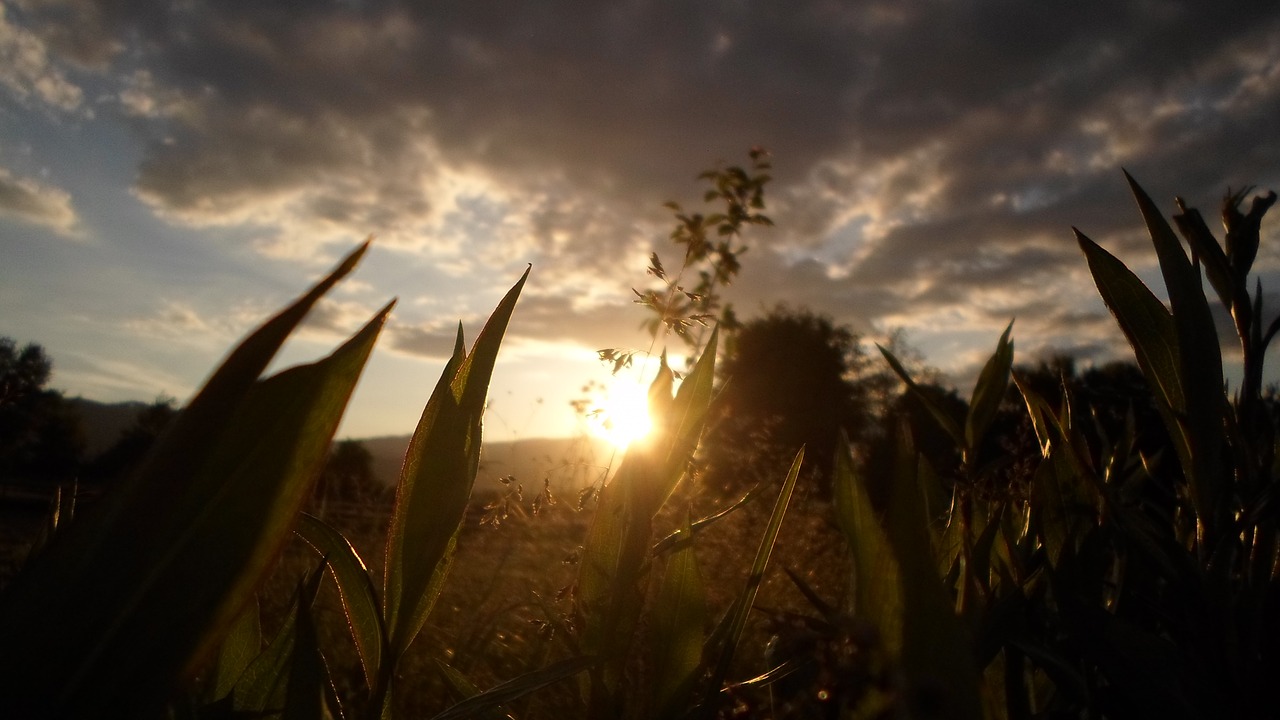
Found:
[[[207,410],[228,398],[183,413],[134,480],[148,492],[109,506],[41,556],[0,614],[5,702],[90,717],[148,712],[165,700],[215,647],[288,537],[389,310],[329,357],[241,388],[229,413]],[[228,363],[268,342],[261,337]],[[233,375],[243,370],[237,363]],[[197,400],[215,384],[228,387],[210,380]],[[175,457],[182,450],[191,454]]]

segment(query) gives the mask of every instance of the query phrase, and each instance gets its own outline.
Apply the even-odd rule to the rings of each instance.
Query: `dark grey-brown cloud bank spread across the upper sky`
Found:
[[[192,223],[411,245],[462,213],[494,232],[452,238],[456,254],[479,242],[484,261],[611,281],[660,241],[644,234],[658,201],[764,145],[778,228],[753,240],[745,311],[786,300],[865,325],[1074,307],[1091,287],[1071,225],[1140,247],[1121,165],[1167,210],[1174,192],[1280,182],[1275,3],[76,0],[27,15],[77,63],[145,69],[183,99],[143,126],[137,191]],[[500,197],[467,215],[468,193]],[[540,302],[518,332],[602,345],[554,322],[612,319],[600,305]],[[1092,327],[1070,318],[1019,329]]]

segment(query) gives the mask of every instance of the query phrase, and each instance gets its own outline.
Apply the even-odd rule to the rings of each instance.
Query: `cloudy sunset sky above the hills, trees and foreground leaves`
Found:
[[[700,209],[698,173],[753,146],[776,227],[744,237],[739,314],[902,329],[963,395],[1015,318],[1018,361],[1129,356],[1070,231],[1158,291],[1121,168],[1211,223],[1228,188],[1280,190],[1271,1],[0,12],[0,336],[44,345],[68,395],[182,401],[374,236],[280,360],[399,299],[351,437],[410,432],[457,323],[470,342],[530,264],[486,433],[577,432],[570,400],[608,383],[595,351],[649,347],[632,288],[653,286],[650,251],[681,255],[662,204]],[[1268,314],[1276,227],[1256,263]]]

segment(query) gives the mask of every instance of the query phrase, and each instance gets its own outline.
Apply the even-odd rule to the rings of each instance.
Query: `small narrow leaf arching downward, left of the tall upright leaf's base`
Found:
[[[385,632],[369,569],[347,538],[324,520],[302,512],[294,532],[321,557],[328,559],[329,571],[338,585],[342,607],[351,625],[351,637],[356,641],[365,680],[372,687],[383,660]]]

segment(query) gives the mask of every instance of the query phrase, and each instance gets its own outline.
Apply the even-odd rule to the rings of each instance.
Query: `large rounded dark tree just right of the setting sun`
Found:
[[[856,438],[867,427],[859,337],[826,315],[778,306],[744,324],[727,350],[705,442],[708,484],[737,492],[780,479],[803,445],[813,488],[828,496],[840,430]]]

